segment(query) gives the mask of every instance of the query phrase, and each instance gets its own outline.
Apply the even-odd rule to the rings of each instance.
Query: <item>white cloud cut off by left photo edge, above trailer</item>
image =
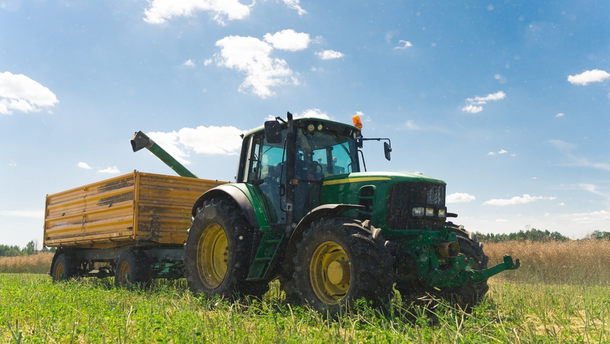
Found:
[[[37,112],[56,103],[56,95],[37,81],[23,74],[0,73],[0,114]]]

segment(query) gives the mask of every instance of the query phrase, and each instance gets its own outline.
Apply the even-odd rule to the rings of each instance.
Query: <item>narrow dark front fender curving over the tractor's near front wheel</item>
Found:
[[[364,205],[359,204],[325,204],[315,207],[312,211],[309,211],[303,219],[296,225],[288,246],[286,247],[285,253],[285,272],[292,274],[294,263],[292,258],[296,255],[296,244],[303,239],[303,232],[311,227],[311,224],[321,218],[328,218],[332,216],[339,216],[348,210],[365,210]]]

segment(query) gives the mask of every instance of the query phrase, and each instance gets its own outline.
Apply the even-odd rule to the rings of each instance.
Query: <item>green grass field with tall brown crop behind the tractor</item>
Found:
[[[148,291],[116,290],[112,279],[52,284],[6,273],[19,264],[0,258],[0,343],[607,343],[609,245],[487,244],[490,263],[509,253],[522,267],[492,277],[472,315],[441,302],[434,324],[399,297],[389,315],[363,307],[329,321],[285,303],[277,284],[262,302],[231,303],[193,296],[184,280]],[[37,258],[40,270],[50,257]]]

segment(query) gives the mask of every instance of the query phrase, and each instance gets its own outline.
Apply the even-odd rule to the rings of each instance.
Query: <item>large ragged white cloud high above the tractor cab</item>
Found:
[[[239,86],[240,92],[252,89],[260,98],[275,93],[271,87],[281,84],[298,84],[285,60],[270,56],[273,46],[254,37],[228,36],[216,42],[220,54],[215,55],[218,66],[246,73]]]

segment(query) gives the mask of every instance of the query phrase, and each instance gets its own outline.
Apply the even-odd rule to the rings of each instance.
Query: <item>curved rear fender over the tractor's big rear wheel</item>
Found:
[[[204,192],[193,205],[192,214],[196,216],[197,210],[206,200],[214,197],[231,197],[242,210],[246,221],[255,229],[268,229],[267,212],[260,193],[256,191],[256,186],[246,183],[229,183],[217,186]]]

